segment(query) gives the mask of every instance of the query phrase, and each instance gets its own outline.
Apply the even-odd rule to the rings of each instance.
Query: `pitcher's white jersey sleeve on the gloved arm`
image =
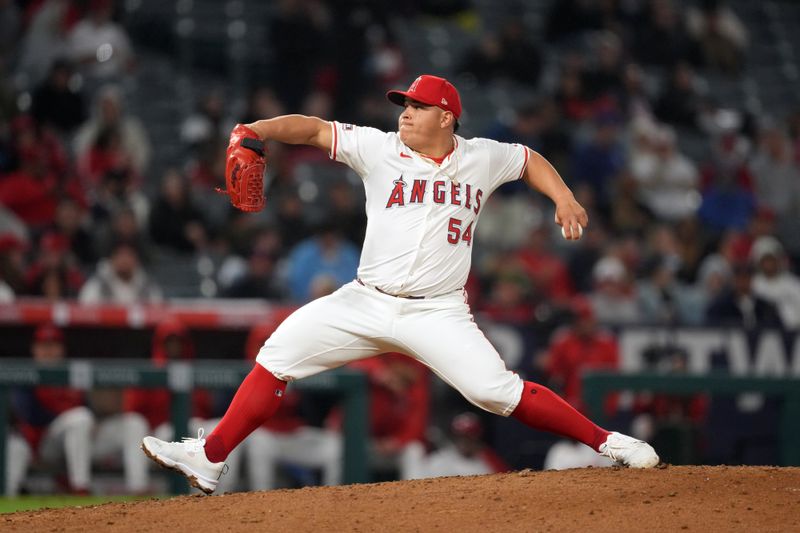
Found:
[[[384,143],[389,136],[375,128],[331,122],[333,140],[330,157],[344,163],[365,179],[370,169],[381,158]]]

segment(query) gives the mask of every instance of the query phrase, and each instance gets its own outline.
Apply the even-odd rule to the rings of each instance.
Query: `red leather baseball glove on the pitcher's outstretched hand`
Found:
[[[225,163],[226,190],[237,209],[254,213],[264,207],[264,170],[267,168],[264,142],[256,132],[237,124],[231,132]]]

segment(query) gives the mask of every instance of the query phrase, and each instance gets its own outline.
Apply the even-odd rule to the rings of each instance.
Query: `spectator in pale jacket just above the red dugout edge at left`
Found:
[[[126,241],[114,244],[78,295],[84,304],[131,305],[158,303],[161,299],[161,289],[142,267],[136,246]]]

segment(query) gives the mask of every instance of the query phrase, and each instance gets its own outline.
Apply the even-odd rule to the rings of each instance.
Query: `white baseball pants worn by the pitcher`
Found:
[[[291,381],[386,352],[417,359],[492,413],[510,415],[522,395],[522,379],[478,329],[464,291],[416,300],[352,281],[295,311],[256,361]]]

